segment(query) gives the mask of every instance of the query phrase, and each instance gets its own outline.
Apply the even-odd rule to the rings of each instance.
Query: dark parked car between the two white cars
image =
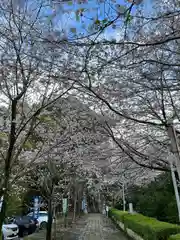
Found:
[[[18,225],[19,228],[18,236],[20,238],[23,238],[24,236],[34,233],[38,225],[38,222],[36,220],[33,220],[29,216],[15,217],[13,222]]]

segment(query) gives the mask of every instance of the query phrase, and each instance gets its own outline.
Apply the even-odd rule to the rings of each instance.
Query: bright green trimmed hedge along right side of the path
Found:
[[[117,209],[110,209],[109,216],[114,216],[118,221],[124,223],[125,229],[131,229],[144,240],[168,240],[170,235],[180,233],[178,225],[160,222],[141,214],[129,214]]]

